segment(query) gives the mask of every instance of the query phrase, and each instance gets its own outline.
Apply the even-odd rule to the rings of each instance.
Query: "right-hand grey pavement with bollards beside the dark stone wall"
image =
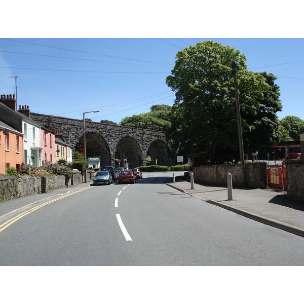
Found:
[[[228,200],[227,187],[197,182],[192,185],[190,179],[185,178],[175,178],[174,183],[171,179],[167,185],[207,203],[304,237],[304,203],[288,200],[286,191],[233,188],[232,200]]]

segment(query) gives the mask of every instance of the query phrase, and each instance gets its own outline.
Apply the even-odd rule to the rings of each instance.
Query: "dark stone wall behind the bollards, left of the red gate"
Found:
[[[227,186],[227,174],[232,175],[233,186],[242,187],[241,165],[211,165],[194,167],[194,181]],[[247,187],[265,188],[267,186],[267,163],[245,164]]]

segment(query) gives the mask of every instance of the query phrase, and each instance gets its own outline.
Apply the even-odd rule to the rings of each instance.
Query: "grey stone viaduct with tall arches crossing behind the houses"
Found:
[[[30,112],[30,118],[44,127],[62,132],[62,140],[75,150],[83,147],[83,120]],[[151,164],[172,166],[164,132],[86,121],[87,157],[100,157],[101,166],[115,166],[116,157],[127,159],[129,168]]]

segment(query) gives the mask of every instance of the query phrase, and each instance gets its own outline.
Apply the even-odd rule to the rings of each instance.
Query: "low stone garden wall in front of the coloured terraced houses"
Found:
[[[87,181],[92,181],[94,171],[88,172]],[[65,176],[0,176],[0,203],[15,198],[33,194],[48,193],[51,190],[70,187],[83,183],[83,176],[80,171],[73,170],[71,179],[66,180]]]

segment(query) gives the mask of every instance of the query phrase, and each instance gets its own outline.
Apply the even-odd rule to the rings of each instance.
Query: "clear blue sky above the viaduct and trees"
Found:
[[[304,120],[304,39],[106,38],[0,39],[1,94],[14,94],[32,112],[116,123],[148,112],[153,104],[173,105],[165,79],[176,53],[212,40],[241,51],[252,71],[276,75],[281,119]]]

